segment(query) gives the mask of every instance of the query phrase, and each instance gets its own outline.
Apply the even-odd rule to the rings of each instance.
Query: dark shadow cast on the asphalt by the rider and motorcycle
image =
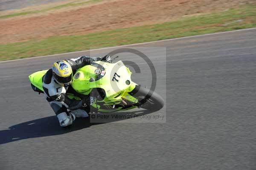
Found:
[[[116,112],[113,114],[119,115],[146,115],[151,113],[150,110],[139,110],[134,112]],[[109,114],[111,115],[111,114]],[[125,119],[125,118],[123,118]],[[49,116],[45,118],[35,119],[33,121],[27,121],[21,124],[16,124],[9,127],[8,130],[0,131],[0,144],[6,144],[12,141],[19,141],[28,138],[38,138],[51,135],[61,135],[64,133],[70,133],[76,130],[81,130],[93,125],[110,123],[114,121],[120,121],[123,119],[111,119],[105,120],[102,123],[91,123],[90,118],[76,118],[71,127],[62,128],[59,125],[56,116]]]

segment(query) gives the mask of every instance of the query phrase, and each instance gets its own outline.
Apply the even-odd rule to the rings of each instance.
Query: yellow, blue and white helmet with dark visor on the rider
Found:
[[[73,72],[67,61],[56,61],[52,64],[52,75],[59,85],[69,86],[72,82]]]

